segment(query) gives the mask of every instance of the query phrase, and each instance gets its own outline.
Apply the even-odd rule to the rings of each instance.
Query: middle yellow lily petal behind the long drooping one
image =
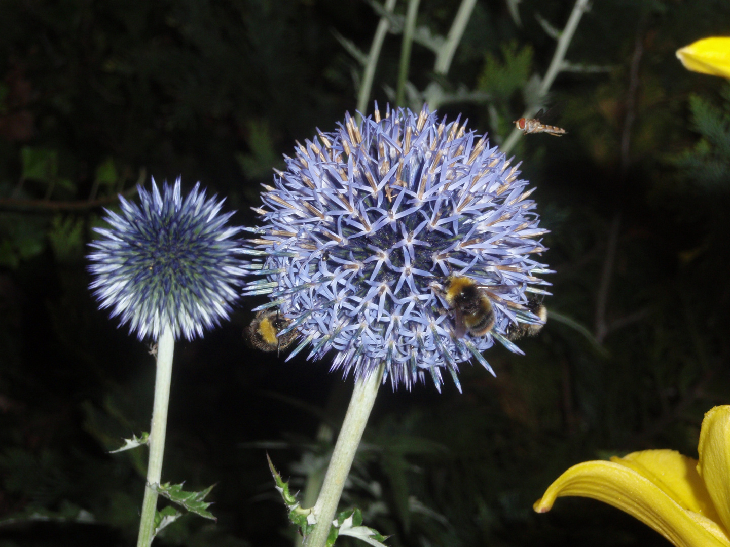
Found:
[[[614,456],[611,461],[645,476],[680,507],[720,522],[710,494],[697,473],[696,459],[683,456],[676,450],[663,449],[632,452],[623,458]]]

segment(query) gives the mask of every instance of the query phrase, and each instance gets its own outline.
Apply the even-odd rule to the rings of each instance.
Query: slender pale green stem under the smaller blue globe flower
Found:
[[[172,352],[174,350],[172,327],[165,325],[157,343],[157,375],[155,376],[155,402],[152,408],[150,427],[150,460],[147,462],[147,486],[142,503],[142,519],[139,521],[137,547],[149,547],[152,543],[157,510],[157,492],[153,486],[160,484],[162,456],[165,451],[165,430],[167,407],[170,400],[170,378],[172,376]]]

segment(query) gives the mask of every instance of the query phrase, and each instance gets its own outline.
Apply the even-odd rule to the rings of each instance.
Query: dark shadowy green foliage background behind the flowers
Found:
[[[510,4],[521,26],[506,2],[477,2],[439,80],[489,93],[443,112],[463,112],[495,139],[511,131],[526,83],[553,55],[536,14],[562,28],[572,5]],[[445,35],[456,9],[422,0],[418,25]],[[360,508],[388,546],[667,545],[606,505],[561,499],[546,515],[531,505],[585,459],[648,448],[696,456],[704,411],[730,400],[730,88],[674,55],[729,25],[721,0],[610,0],[584,15],[566,58],[608,71],[558,76],[549,101],[564,101],[556,124],[569,134],[529,136],[512,151],[553,230],[545,304],[567,320],[520,343],[526,357],[487,352],[496,379],[465,365],[463,395],[381,390],[341,508]],[[88,292],[82,256],[101,206],[115,207],[119,192],[134,198],[150,174],[182,175],[186,189],[201,180],[239,210],[237,224],[253,224],[259,185],[295,139],[331,130],[354,108],[360,67],[331,30],[366,52],[375,26],[372,8],[354,0],[4,2],[3,547],[136,537],[146,448],[107,452],[149,430],[154,361]],[[399,52],[400,36],[388,35],[372,93],[381,109]],[[414,44],[418,90],[433,66]],[[254,305],[177,346],[163,480],[217,483],[218,523],[185,514],[161,530],[160,545],[292,545],[266,455],[252,446],[275,441],[272,461],[304,490],[334,442],[318,427],[324,414],[336,432],[351,380],[326,362],[245,348]]]

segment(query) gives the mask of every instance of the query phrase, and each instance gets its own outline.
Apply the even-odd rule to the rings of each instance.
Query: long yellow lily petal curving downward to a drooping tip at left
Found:
[[[648,524],[677,547],[730,547],[730,538],[720,526],[682,508],[626,465],[604,461],[574,465],[535,502],[535,511],[550,511],[561,496],[591,497],[613,505]]]

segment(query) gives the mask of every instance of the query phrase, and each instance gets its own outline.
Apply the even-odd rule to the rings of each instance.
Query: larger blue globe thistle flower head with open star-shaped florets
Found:
[[[388,109],[356,125],[298,143],[287,169],[266,186],[264,220],[250,255],[265,276],[245,294],[269,294],[310,357],[334,350],[332,368],[365,376],[385,362],[393,388],[442,371],[458,384],[458,363],[505,337],[516,322],[540,323],[527,292],[549,294],[536,274],[545,250],[532,190],[517,166],[459,119],[440,122],[424,108]],[[445,309],[445,278],[491,286],[493,328],[456,333]],[[492,290],[493,289],[493,290]],[[460,333],[461,334],[461,333]],[[459,388],[461,389],[461,388]]]

